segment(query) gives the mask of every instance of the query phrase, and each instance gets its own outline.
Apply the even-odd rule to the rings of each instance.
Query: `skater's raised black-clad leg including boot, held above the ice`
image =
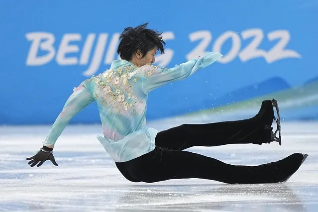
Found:
[[[269,143],[274,111],[272,101],[263,101],[253,118],[208,124],[183,124],[161,131],[156,146],[183,150],[192,146],[219,146],[237,143]]]

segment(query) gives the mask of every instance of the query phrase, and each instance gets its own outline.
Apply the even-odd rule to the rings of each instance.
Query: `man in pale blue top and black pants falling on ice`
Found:
[[[147,23],[127,27],[117,49],[121,60],[109,70],[80,84],[55,120],[43,147],[30,160],[31,167],[51,160],[53,147],[70,119],[97,102],[104,136],[98,136],[121,174],[132,182],[153,183],[170,179],[201,178],[234,183],[284,182],[304,162],[307,154],[294,153],[280,161],[259,166],[235,166],[211,157],[184,151],[192,146],[242,143],[281,144],[280,118],[274,116],[275,100],[263,101],[252,118],[208,124],[182,124],[161,132],[146,126],[148,94],[160,86],[190,77],[222,57],[218,52],[192,59],[173,68],[159,68],[156,51],[164,53],[165,42]],[[273,119],[277,130],[272,132]],[[278,136],[277,136],[278,134]]]

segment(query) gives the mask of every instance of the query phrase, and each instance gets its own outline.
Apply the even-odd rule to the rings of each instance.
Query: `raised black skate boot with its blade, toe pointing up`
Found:
[[[277,118],[274,114],[274,109],[276,108],[277,111]],[[273,130],[272,123],[273,119],[275,120],[277,124],[277,128],[275,132],[271,132],[271,140],[270,141],[277,141],[279,145],[282,145],[282,137],[281,137],[281,121],[280,121],[280,115],[279,115],[279,108],[276,100],[264,100],[262,102],[262,106],[259,110],[259,112],[254,116],[254,118],[258,119],[261,124],[264,124],[265,129],[271,129]]]

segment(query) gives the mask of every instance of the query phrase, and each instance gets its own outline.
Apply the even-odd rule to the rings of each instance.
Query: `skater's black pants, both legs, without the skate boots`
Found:
[[[219,182],[274,183],[278,174],[272,163],[235,166],[211,157],[183,151],[192,146],[270,142],[270,127],[256,118],[209,124],[183,124],[156,136],[156,148],[138,158],[116,163],[122,175],[132,182],[153,183],[169,179],[201,178]]]

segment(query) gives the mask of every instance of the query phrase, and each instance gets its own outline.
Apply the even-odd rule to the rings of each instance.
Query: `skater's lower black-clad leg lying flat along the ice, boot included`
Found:
[[[129,169],[137,181],[153,183],[170,179],[200,178],[229,184],[281,182],[299,168],[302,154],[294,154],[283,162],[259,166],[235,166],[200,154],[156,147],[152,152],[128,162],[116,163]]]

